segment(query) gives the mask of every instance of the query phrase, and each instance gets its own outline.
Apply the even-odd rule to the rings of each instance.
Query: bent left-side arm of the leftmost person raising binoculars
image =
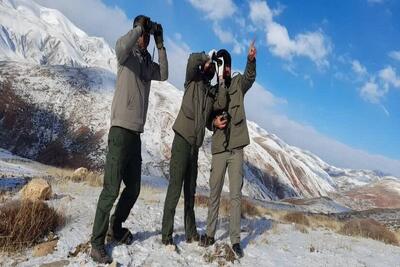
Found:
[[[115,45],[115,53],[117,54],[117,60],[120,65],[125,63],[142,33],[143,28],[138,25],[118,39]]]

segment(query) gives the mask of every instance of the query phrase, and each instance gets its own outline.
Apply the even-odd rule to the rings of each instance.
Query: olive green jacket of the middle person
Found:
[[[173,129],[191,145],[203,144],[207,119],[213,110],[226,106],[226,87],[211,86],[200,72],[200,66],[209,60],[208,55],[192,53],[186,67],[185,92],[181,109]]]

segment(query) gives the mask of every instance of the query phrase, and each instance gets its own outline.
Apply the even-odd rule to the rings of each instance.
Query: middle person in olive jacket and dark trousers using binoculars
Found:
[[[193,53],[186,67],[185,92],[181,109],[173,125],[175,132],[170,160],[170,179],[164,203],[162,243],[173,245],[173,228],[176,206],[184,192],[184,224],[188,243],[199,240],[194,215],[194,195],[197,180],[197,159],[203,143],[206,120],[214,110],[226,106],[226,88],[211,87],[215,67],[212,62],[215,50],[209,55]]]

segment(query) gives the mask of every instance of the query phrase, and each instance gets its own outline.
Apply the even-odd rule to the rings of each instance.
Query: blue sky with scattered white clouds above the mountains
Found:
[[[249,120],[335,166],[400,176],[400,1],[36,2],[112,47],[135,16],[150,16],[163,25],[179,89],[190,52],[226,48],[243,72],[255,40]]]

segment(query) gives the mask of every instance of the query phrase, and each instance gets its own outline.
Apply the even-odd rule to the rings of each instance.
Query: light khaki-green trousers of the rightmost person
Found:
[[[207,235],[214,237],[217,229],[219,202],[226,169],[229,174],[230,217],[229,235],[232,244],[240,242],[240,217],[243,187],[243,149],[212,155],[210,198],[208,202]]]

